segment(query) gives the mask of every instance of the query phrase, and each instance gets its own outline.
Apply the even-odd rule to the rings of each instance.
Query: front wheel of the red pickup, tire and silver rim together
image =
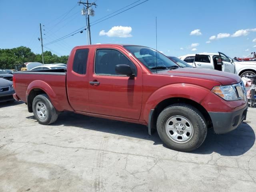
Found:
[[[164,144],[177,151],[192,151],[205,140],[207,126],[204,116],[188,104],[173,104],[157,119],[157,132]]]

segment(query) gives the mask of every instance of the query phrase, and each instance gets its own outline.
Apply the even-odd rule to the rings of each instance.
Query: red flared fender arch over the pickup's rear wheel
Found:
[[[52,102],[52,104],[56,108],[56,110],[58,110],[58,111],[63,110],[62,106],[58,102],[58,98],[57,98],[54,90],[52,90],[52,88],[49,84],[47,84],[46,82],[44,82],[42,80],[34,80],[28,85],[27,90],[26,90],[26,101],[27,102],[28,102],[28,96],[29,96],[30,92],[35,88],[43,90],[48,95],[48,97],[50,98],[50,101]]]

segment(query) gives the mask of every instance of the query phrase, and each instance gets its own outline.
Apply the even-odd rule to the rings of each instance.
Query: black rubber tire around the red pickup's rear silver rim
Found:
[[[46,108],[47,114],[44,118],[40,118],[40,116],[36,112],[36,106],[38,102],[41,102],[42,104],[44,104]],[[36,120],[38,120],[40,124],[48,125],[55,122],[58,118],[58,112],[54,108],[54,106],[52,105],[50,99],[46,94],[37,95],[34,98],[32,103],[32,109],[33,109],[34,117],[36,118]]]

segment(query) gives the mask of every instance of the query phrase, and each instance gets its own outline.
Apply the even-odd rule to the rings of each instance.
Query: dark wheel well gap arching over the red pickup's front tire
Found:
[[[162,110],[164,110],[164,108],[172,105],[172,104],[176,104],[176,103],[185,103],[185,104],[189,104],[193,107],[195,107],[196,109],[198,109],[202,115],[204,116],[206,122],[207,122],[207,127],[208,128],[211,128],[212,127],[212,120],[210,118],[210,115],[208,114],[208,112],[206,111],[206,109],[200,105],[199,103],[193,101],[193,100],[190,100],[190,99],[186,99],[186,98],[168,98],[166,100],[163,100],[162,102],[160,102],[155,110],[154,110],[154,113],[153,113],[153,129],[156,129],[156,121],[157,121],[157,118],[160,114],[160,112],[162,112]]]

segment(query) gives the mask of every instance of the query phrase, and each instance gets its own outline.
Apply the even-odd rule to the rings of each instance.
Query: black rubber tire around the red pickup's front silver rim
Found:
[[[168,135],[168,131],[166,131],[166,124],[171,118],[175,118],[175,116],[182,116],[191,122],[193,134],[191,134],[192,136],[190,136],[189,140],[177,142]],[[168,148],[177,151],[188,152],[197,149],[204,142],[207,134],[207,126],[204,116],[196,108],[188,104],[173,104],[165,108],[159,114],[156,126],[158,135],[164,144]],[[170,134],[171,133],[173,132],[171,131]],[[176,135],[178,134],[176,133]]]

